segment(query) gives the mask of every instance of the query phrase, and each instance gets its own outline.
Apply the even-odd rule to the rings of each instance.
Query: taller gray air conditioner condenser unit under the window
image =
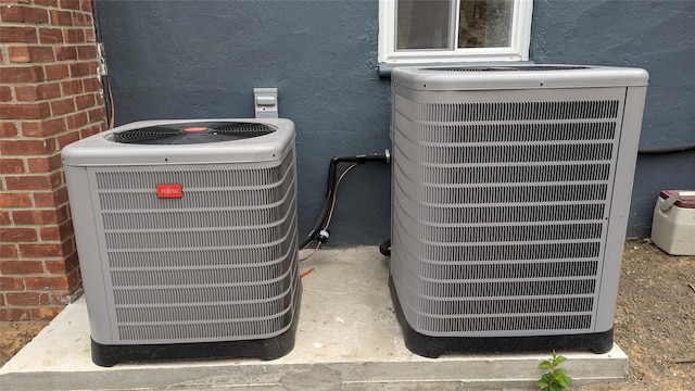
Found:
[[[390,285],[408,349],[612,348],[647,78],[393,71]]]

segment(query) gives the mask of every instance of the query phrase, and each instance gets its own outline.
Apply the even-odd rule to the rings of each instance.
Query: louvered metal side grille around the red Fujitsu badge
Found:
[[[276,337],[299,289],[294,151],[275,166],[93,174],[119,343]],[[181,198],[156,185],[180,184]]]

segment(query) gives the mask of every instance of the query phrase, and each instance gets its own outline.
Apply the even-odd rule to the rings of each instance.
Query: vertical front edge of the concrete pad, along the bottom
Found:
[[[79,373],[9,373],[4,391],[49,390],[420,390],[435,388],[533,388],[544,373],[538,360],[443,361],[432,363],[316,363],[220,365],[190,369],[134,369]],[[627,357],[565,362],[574,386],[620,381]],[[538,368],[538,369],[536,369]],[[530,378],[536,373],[538,377]],[[622,374],[622,376],[616,376]]]

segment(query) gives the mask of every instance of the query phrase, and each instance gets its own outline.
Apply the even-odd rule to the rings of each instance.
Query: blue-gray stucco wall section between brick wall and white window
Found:
[[[117,125],[253,117],[253,88],[278,88],[279,115],[296,127],[302,236],[325,195],[330,159],[390,148],[390,84],[375,71],[377,1],[97,5]],[[389,166],[356,167],[340,187],[329,244],[375,244],[389,226]]]

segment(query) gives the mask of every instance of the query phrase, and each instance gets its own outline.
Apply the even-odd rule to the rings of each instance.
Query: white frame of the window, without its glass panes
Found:
[[[458,21],[459,1],[453,0]],[[528,61],[533,0],[514,0],[510,45],[504,48],[460,48],[454,50],[396,50],[395,0],[379,0],[379,55],[381,63],[422,64],[434,62]],[[454,28],[457,34],[457,28]],[[457,37],[454,37],[454,42]]]

